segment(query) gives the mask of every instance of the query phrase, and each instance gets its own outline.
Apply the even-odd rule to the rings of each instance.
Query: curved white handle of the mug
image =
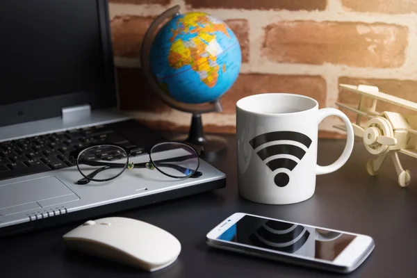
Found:
[[[352,123],[350,122],[349,118],[342,111],[337,110],[336,108],[322,108],[318,111],[318,123],[317,124],[320,124],[320,122],[322,122],[322,120],[325,117],[329,117],[329,116],[341,117],[341,119],[345,123],[346,131],[347,131],[346,145],[345,145],[345,149],[343,149],[343,153],[336,161],[334,161],[334,163],[327,165],[327,166],[316,165],[316,174],[329,174],[331,172],[338,170],[340,167],[342,167],[346,163],[347,159],[349,159],[350,157],[350,154],[352,154],[353,143],[354,143],[354,133],[353,133]]]

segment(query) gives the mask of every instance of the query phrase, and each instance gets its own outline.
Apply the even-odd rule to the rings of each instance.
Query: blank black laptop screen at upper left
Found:
[[[56,108],[44,113],[49,117],[61,106],[116,106],[106,5],[103,0],[1,0],[0,109],[49,100],[48,107]]]

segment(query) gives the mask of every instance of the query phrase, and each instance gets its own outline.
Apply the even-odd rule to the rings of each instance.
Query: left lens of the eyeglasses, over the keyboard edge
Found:
[[[93,181],[107,181],[123,172],[127,154],[120,147],[100,145],[83,150],[77,164],[84,177]]]

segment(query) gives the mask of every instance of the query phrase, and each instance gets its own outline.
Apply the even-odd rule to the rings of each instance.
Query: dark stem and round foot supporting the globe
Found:
[[[220,136],[204,135],[201,114],[193,114],[188,135],[172,138],[174,141],[186,142],[200,152],[203,159],[213,159],[227,149],[227,140]]]

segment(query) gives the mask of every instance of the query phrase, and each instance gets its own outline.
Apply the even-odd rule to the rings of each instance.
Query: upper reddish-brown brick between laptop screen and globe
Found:
[[[154,18],[136,15],[118,15],[111,19],[113,55],[139,58],[140,46],[147,28]]]

